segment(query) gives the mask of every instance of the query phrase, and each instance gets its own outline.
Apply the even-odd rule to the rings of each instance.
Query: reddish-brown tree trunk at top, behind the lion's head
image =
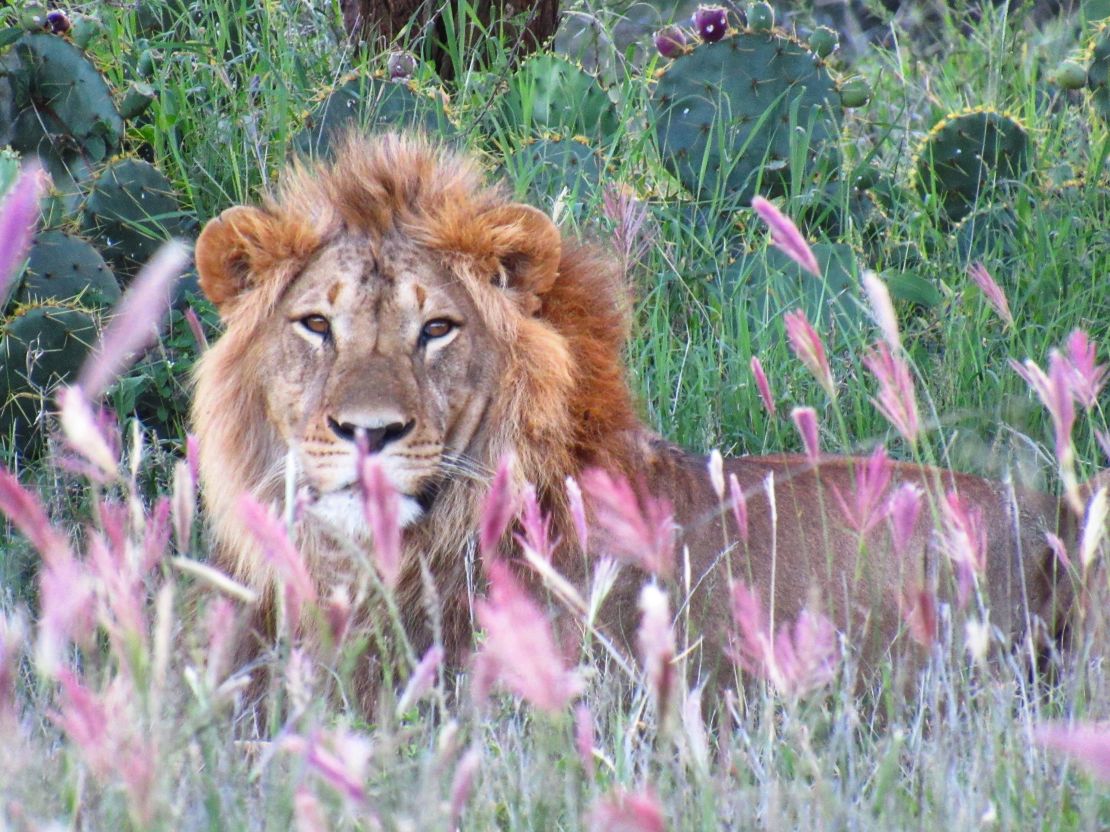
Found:
[[[456,68],[444,45],[448,38],[444,10],[455,13],[457,24],[457,0],[341,0],[340,4],[350,37],[366,41],[372,49],[385,49],[408,26],[407,48],[432,61],[444,80],[454,77]],[[471,7],[483,26],[505,27],[505,43],[512,44],[514,63],[542,47],[558,26],[558,0],[471,0]],[[473,57],[481,61],[483,51],[475,51],[476,27],[471,20],[464,24],[466,52],[475,52]],[[454,40],[458,40],[457,34]]]

